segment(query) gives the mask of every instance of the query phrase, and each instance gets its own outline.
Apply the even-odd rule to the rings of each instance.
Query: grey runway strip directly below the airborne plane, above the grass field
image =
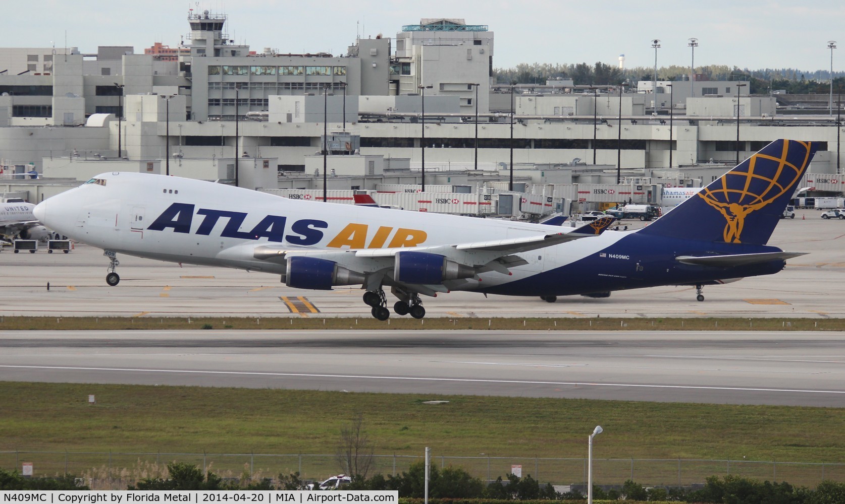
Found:
[[[845,407],[845,333],[7,331],[0,381]]]

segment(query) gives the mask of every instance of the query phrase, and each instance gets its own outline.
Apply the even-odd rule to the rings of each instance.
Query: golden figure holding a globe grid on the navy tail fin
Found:
[[[791,160],[788,159],[790,145],[793,146]],[[809,154],[809,144],[785,141],[779,156],[754,154],[742,165],[723,175],[718,181],[721,187],[713,187],[711,184],[704,191],[698,192],[698,196],[717,209],[727,222],[724,241],[741,243],[745,218],[782,197],[788,187],[794,187],[804,173]],[[803,162],[797,164],[795,161]],[[761,172],[773,175],[765,176]]]

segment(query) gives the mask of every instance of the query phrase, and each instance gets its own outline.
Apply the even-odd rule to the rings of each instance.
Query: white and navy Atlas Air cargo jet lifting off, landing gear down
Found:
[[[281,275],[300,289],[361,285],[373,317],[423,317],[420,295],[607,297],[613,290],[704,285],[775,274],[791,257],[766,246],[815,145],[776,140],[661,219],[613,231],[279,198],[213,182],[104,173],[35,207],[35,217],[117,253]]]

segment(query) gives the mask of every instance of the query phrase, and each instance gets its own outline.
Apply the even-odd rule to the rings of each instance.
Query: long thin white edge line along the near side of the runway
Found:
[[[540,382],[532,380],[493,380],[488,378],[427,378],[427,377],[377,377],[372,375],[329,375],[317,373],[279,373],[264,371],[192,371],[178,369],[136,369],[131,367],[72,367],[72,366],[8,366],[11,369],[46,369],[64,371],[133,371],[157,373],[188,373],[201,375],[240,375],[257,377],[305,377],[305,378],[358,378],[367,380],[405,380],[410,382],[464,382],[464,383],[514,383],[517,385],[566,385],[572,387],[632,387],[632,388],[675,388],[685,390],[727,390],[731,392],[788,392],[788,393],[831,393],[845,394],[845,390],[814,390],[811,388],[763,388],[763,387],[709,387],[704,385],[646,385],[641,383],[597,383],[597,382]]]

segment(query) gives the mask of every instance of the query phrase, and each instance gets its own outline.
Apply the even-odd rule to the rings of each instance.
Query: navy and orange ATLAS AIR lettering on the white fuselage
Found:
[[[172,203],[161,212],[147,230],[164,231],[171,228],[174,233],[190,234],[194,225],[194,214],[202,215],[203,219],[194,231],[194,235],[210,236],[221,219],[226,224],[220,232],[222,238],[237,238],[240,240],[260,240],[292,243],[293,245],[311,246],[323,240],[323,230],[328,229],[329,223],[319,219],[297,219],[291,224],[290,232],[286,232],[287,217],[283,215],[265,215],[252,229],[241,230],[244,220],[248,218],[246,212],[233,212],[219,209],[196,209],[191,203]],[[428,234],[423,230],[378,226],[373,236],[369,236],[366,224],[350,223],[335,235],[325,247],[329,248],[381,248],[388,247],[417,247],[423,243]],[[392,235],[392,237],[391,237]],[[390,242],[388,238],[390,237]]]

